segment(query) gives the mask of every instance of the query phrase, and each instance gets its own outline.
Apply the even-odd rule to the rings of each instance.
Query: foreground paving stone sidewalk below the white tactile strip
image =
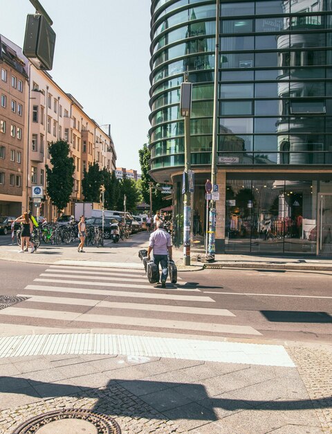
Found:
[[[331,348],[288,352],[298,370],[105,355],[3,358],[0,433],[62,408],[114,417],[122,434],[331,433]]]

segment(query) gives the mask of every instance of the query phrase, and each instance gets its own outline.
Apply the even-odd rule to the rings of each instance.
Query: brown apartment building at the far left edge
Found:
[[[28,70],[19,46],[0,35],[0,216],[25,210]]]

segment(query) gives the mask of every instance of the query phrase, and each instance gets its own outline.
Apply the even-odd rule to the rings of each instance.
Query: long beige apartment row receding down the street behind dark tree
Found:
[[[50,164],[48,146],[57,140],[67,141],[74,159],[75,173],[71,202],[64,214],[74,214],[75,202],[82,202],[84,169],[97,161],[100,168],[116,168],[113,141],[83,110],[71,94],[67,94],[49,73],[30,66],[30,128],[28,143],[28,208],[35,207],[33,186],[42,186],[44,200],[39,211],[47,220],[54,220],[57,210],[46,191],[45,164]]]

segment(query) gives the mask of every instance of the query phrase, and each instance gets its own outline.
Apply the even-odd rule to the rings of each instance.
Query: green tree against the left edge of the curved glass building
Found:
[[[147,203],[150,203],[150,187],[149,182],[153,182],[156,186],[160,186],[160,184],[154,182],[152,177],[149,175],[150,164],[149,160],[151,159],[151,151],[147,144],[144,144],[143,147],[138,150],[138,154],[140,155],[140,170],[142,172],[142,180],[141,180],[141,193],[143,196],[143,200]],[[160,208],[165,207],[165,201],[163,200],[163,194],[161,191],[157,189],[152,189],[152,209],[153,211],[157,211]]]

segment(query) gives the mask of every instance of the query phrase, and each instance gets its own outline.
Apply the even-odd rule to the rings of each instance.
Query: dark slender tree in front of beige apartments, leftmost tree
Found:
[[[75,164],[73,157],[69,157],[69,145],[66,141],[56,141],[48,146],[50,164],[46,168],[46,190],[50,200],[57,207],[59,214],[71,200],[74,186]]]

